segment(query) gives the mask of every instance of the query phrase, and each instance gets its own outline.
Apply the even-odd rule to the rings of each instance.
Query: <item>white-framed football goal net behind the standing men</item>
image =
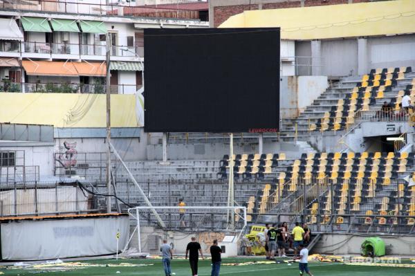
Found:
[[[138,206],[128,212],[131,236],[127,246],[151,255],[159,254],[164,239],[181,254],[191,237],[204,250],[214,239],[223,241],[225,236],[233,236],[236,242],[246,227],[246,208],[240,206]]]

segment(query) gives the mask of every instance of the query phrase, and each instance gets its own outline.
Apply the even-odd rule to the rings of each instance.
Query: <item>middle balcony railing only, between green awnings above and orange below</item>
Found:
[[[71,44],[46,42],[0,42],[0,52],[37,53],[62,55],[105,56],[107,46],[103,44]],[[144,57],[144,47],[111,46],[110,52],[115,57]]]

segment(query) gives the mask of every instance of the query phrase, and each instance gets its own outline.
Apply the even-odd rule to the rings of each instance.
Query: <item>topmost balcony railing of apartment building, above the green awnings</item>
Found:
[[[30,10],[40,12],[76,13],[78,15],[107,15],[133,17],[166,17],[175,19],[199,19],[199,10],[182,10],[179,8],[160,8],[158,6],[106,5],[105,0],[100,3],[77,3],[75,0],[3,0],[0,9],[3,10]],[[131,5],[131,6],[130,6]]]

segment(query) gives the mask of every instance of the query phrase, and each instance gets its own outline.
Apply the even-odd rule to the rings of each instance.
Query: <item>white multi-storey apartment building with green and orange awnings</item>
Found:
[[[208,27],[193,1],[109,2],[0,0],[0,91],[104,93],[109,35],[111,93],[136,93],[144,28]]]

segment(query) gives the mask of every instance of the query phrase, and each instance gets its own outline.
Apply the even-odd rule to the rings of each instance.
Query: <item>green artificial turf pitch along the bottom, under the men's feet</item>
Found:
[[[246,259],[246,258],[227,258],[223,259],[222,264],[238,264],[247,261],[259,261],[259,259]],[[148,275],[148,276],[164,276],[163,266],[160,259],[99,259],[91,261],[80,261],[82,264],[93,264],[95,266],[69,269],[65,267],[50,266],[40,268],[0,268],[0,273],[3,275],[119,275],[119,276],[132,276],[132,275]],[[118,266],[118,265],[123,266]],[[128,266],[144,265],[144,266]],[[97,266],[100,265],[100,266]],[[108,266],[107,266],[108,265]],[[415,275],[415,268],[398,268],[398,267],[380,267],[380,266],[350,266],[341,263],[326,263],[326,262],[313,262],[308,264],[311,272],[315,276],[328,276],[328,275],[376,275],[376,276],[390,276],[390,275]],[[210,260],[199,261],[199,276],[210,275]],[[62,270],[62,271],[57,271]],[[117,273],[119,271],[119,273]],[[176,273],[176,276],[191,275],[190,266],[185,259],[173,259],[172,260],[172,273]],[[220,275],[227,276],[268,276],[268,275],[299,275],[298,264],[292,264],[288,266],[286,263],[280,264],[247,264],[243,266],[221,266]]]

